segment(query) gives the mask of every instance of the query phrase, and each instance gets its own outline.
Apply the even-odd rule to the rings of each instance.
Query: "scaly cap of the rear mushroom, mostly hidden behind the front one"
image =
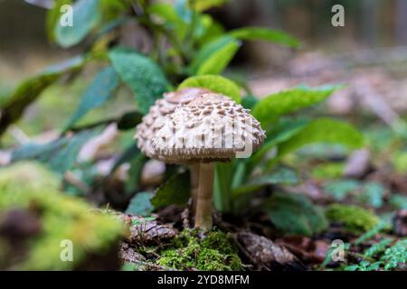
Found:
[[[207,92],[210,91],[204,88],[185,88],[174,92],[166,92],[164,98],[157,99],[155,105],[150,107],[148,114],[143,117],[142,122],[136,128],[135,138],[140,151],[150,158],[160,160],[160,156],[156,154],[154,147],[151,145],[151,139],[156,129],[166,123],[166,116],[173,113],[175,107],[187,104]]]

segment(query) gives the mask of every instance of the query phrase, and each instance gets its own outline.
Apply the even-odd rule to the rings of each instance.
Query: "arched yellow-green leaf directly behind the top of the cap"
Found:
[[[220,75],[200,75],[185,79],[178,89],[206,88],[241,102],[241,89],[230,79]]]

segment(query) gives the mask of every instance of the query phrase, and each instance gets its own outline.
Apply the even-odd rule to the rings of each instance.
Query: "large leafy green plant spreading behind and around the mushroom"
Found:
[[[80,96],[80,105],[61,128],[61,137],[50,144],[24,145],[14,152],[13,160],[35,159],[51,165],[58,172],[67,172],[77,166],[76,155],[81,145],[102,127],[116,123],[121,131],[133,129],[165,91],[185,87],[204,87],[231,97],[244,107],[251,108],[253,116],[267,132],[266,143],[251,158],[216,165],[214,200],[218,210],[233,213],[243,211],[241,209],[255,191],[270,185],[298,182],[295,172],[276,164],[304,145],[326,142],[344,144],[349,148],[360,147],[363,138],[353,126],[331,118],[297,116],[299,111],[317,105],[340,87],[299,86],[261,96],[263,98],[258,100],[259,96],[254,96],[247,86],[222,76],[244,41],[273,42],[289,48],[299,46],[295,38],[276,30],[245,27],[225,31],[221,23],[205,13],[207,9],[225,2],[177,0],[175,5],[170,5],[145,0],[56,1],[46,21],[50,41],[63,48],[81,44],[85,47],[84,53],[24,81],[15,89],[2,104],[0,133],[22,117],[24,109],[41,95],[43,89],[56,84],[62,76],[70,75],[70,79],[74,79],[90,63],[98,63],[103,68]],[[66,4],[73,7],[73,26],[60,24],[60,9]],[[128,24],[136,24],[151,36],[153,45],[148,54],[118,46],[122,36],[120,32],[123,31],[121,28]],[[134,94],[133,109],[122,116],[89,126],[78,126],[82,117],[106,104],[122,86]],[[138,189],[135,180],[145,161],[135,144],[129,144],[118,157],[111,173],[121,163],[130,163],[133,183],[127,189],[133,193]],[[185,190],[185,178],[188,178],[187,174],[170,178],[156,191],[154,199],[148,193],[137,195],[130,205],[130,211],[147,213],[152,210],[151,204],[138,207],[139,201],[151,200],[155,208],[185,202],[187,198],[180,199],[179,191],[176,191],[179,188]],[[297,210],[296,205],[292,204],[302,203],[302,200],[280,199],[276,195],[269,206],[262,208],[270,211],[270,219],[276,223],[279,223],[277,219],[281,219],[279,211],[283,211],[276,210],[276,206]],[[279,201],[283,201],[284,205]],[[319,216],[314,210],[308,206],[305,213],[300,214]],[[316,226],[312,219],[304,222],[309,229],[304,233],[310,234],[311,228],[320,230],[324,227]],[[281,224],[281,227],[289,226]]]

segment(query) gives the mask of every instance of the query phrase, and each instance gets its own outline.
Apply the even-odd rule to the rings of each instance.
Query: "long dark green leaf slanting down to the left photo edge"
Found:
[[[75,57],[54,65],[31,79],[24,80],[9,97],[5,98],[5,103],[2,104],[0,135],[8,126],[22,117],[24,109],[38,98],[44,89],[60,79],[64,73],[80,70],[85,61],[82,57]]]

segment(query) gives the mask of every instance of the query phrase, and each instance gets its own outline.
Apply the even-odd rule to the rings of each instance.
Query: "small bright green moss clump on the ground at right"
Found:
[[[361,233],[374,228],[379,219],[369,210],[356,206],[333,204],[327,208],[327,218],[339,222],[351,232]]]

